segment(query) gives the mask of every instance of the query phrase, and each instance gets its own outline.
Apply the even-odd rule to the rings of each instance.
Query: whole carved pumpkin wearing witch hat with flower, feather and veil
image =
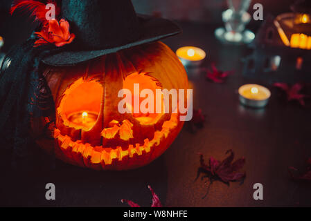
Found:
[[[5,61],[10,65],[1,70],[0,129],[8,131],[1,140],[12,141],[14,154],[26,157],[35,152],[28,145],[31,135],[61,160],[97,170],[152,162],[181,130],[181,106],[187,108],[187,96],[178,100],[181,106],[167,104],[163,93],[149,97],[159,89],[184,93],[188,87],[181,62],[159,41],[180,28],[166,19],[136,15],[130,0],[45,3],[49,7],[17,1],[12,8],[32,10],[41,31],[12,48]],[[130,92],[134,101],[120,91]],[[142,99],[144,91],[159,109]],[[137,106],[145,106],[144,111]]]

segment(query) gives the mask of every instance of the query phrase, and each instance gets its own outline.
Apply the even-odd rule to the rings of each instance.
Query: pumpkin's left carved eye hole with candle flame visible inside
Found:
[[[103,86],[82,78],[75,81],[63,94],[57,113],[65,126],[89,131],[98,118]]]

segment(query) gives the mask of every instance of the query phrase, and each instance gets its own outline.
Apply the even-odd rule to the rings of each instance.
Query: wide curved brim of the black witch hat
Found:
[[[73,66],[83,61],[95,59],[97,57],[108,55],[119,50],[132,48],[141,44],[147,44],[153,41],[159,41],[166,37],[181,33],[181,28],[176,23],[162,18],[154,18],[147,15],[137,15],[141,21],[141,37],[129,44],[108,48],[103,50],[83,50],[83,51],[61,51],[54,55],[44,57],[44,64],[50,66]]]

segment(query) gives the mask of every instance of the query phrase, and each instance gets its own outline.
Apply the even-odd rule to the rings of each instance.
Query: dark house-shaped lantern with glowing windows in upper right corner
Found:
[[[311,2],[265,19],[245,59],[244,75],[265,81],[311,81]]]

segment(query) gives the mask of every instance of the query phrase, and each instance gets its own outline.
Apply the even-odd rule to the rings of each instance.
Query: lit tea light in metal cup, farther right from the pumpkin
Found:
[[[245,106],[263,108],[269,102],[270,90],[258,84],[245,84],[239,88],[240,102]]]

